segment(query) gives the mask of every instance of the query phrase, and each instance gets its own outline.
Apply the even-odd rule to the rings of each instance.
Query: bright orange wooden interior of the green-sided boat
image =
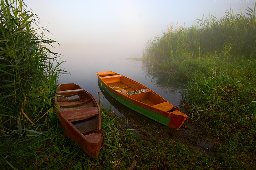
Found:
[[[177,110],[155,92],[140,83],[112,71],[99,72],[101,80],[124,96],[130,97],[156,109],[172,112]]]

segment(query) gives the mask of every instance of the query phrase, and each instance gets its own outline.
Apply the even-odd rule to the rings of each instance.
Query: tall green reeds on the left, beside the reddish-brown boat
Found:
[[[0,135],[24,134],[52,114],[52,99],[61,64],[50,50],[56,42],[44,37],[37,16],[22,0],[1,0]],[[36,27],[36,28],[34,28]]]

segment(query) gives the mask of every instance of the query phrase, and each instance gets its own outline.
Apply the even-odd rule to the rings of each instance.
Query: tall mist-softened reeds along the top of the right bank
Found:
[[[197,19],[186,28],[171,25],[162,36],[156,36],[145,45],[144,60],[168,62],[175,57],[199,57],[220,54],[256,58],[255,5],[246,12],[234,15],[227,11],[220,19],[209,16]],[[177,23],[178,24],[178,23]]]

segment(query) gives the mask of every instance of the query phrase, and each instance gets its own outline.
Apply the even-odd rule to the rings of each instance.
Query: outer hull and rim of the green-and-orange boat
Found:
[[[101,87],[101,89],[105,90],[109,95],[111,95],[113,98],[115,98],[118,102],[124,104],[125,106],[131,108],[132,110],[135,110],[138,113],[140,113],[146,117],[149,117],[161,124],[164,124],[170,128],[176,129],[176,130],[178,130],[181,127],[181,125],[184,123],[184,121],[186,120],[187,115],[181,113],[180,110],[178,110],[178,109],[173,109],[173,110],[167,112],[166,110],[161,110],[161,109],[155,108],[157,106],[157,104],[150,106],[150,105],[142,103],[138,100],[134,100],[134,98],[136,99],[136,95],[134,95],[134,97],[131,98],[127,95],[124,95],[124,93],[120,93],[120,92],[114,90],[113,88],[111,88],[107,83],[105,83],[102,80],[99,73],[97,73],[97,74],[98,74],[98,83],[99,83],[99,86]],[[116,74],[116,73],[114,73],[114,74]],[[112,74],[110,74],[110,75],[112,75]],[[126,82],[132,82],[132,83],[135,82],[132,79],[129,79],[127,77],[124,77],[124,76],[122,76],[122,77],[124,79],[127,79]],[[120,81],[122,81],[122,80],[120,80]],[[109,82],[111,83],[113,81],[109,81]],[[147,87],[141,85],[138,82],[135,83],[135,86],[140,86],[140,89],[141,88],[148,89]],[[148,90],[150,90],[150,89],[148,89]],[[150,93],[152,93],[152,95],[156,95],[157,98],[159,98],[158,100],[161,100],[162,103],[166,103],[167,105],[169,105],[169,107],[172,106],[170,103],[168,103],[166,100],[164,100],[161,96],[157,95],[152,90],[150,90]],[[143,94],[140,94],[140,95],[143,95]],[[161,105],[161,103],[158,105]]]

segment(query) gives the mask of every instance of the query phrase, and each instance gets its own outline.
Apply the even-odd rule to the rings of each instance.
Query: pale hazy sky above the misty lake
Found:
[[[53,34],[66,57],[141,57],[148,39],[167,25],[191,26],[198,18],[223,16],[246,6],[248,0],[24,0]]]

